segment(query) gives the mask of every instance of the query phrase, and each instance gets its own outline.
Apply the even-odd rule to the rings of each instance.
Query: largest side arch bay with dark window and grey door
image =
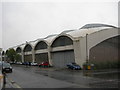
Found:
[[[68,34],[57,36],[51,44],[53,66],[65,68],[66,64],[75,62],[73,38]]]

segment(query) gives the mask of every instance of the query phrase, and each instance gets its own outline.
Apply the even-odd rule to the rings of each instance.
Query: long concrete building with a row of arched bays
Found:
[[[52,66],[64,68],[76,62],[109,62],[118,60],[119,28],[105,24],[87,24],[80,29],[63,31],[58,35],[15,47],[22,62],[49,62]]]

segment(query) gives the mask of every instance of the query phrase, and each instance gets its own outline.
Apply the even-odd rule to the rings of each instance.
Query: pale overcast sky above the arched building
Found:
[[[7,49],[50,34],[59,34],[64,30],[78,29],[88,23],[118,26],[117,0],[112,0],[114,2],[48,1],[7,2],[5,0],[2,5],[0,3],[0,16],[2,15],[0,36],[3,37],[0,38],[0,47]]]

